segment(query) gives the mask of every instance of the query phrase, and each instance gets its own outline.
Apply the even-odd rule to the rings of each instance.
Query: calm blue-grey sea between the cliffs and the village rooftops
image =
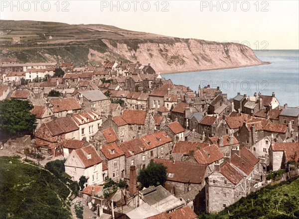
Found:
[[[240,92],[253,96],[255,92],[275,95],[281,105],[299,106],[299,50],[255,51],[256,56],[269,65],[202,72],[163,74],[174,84],[190,87],[193,91],[210,84],[220,87],[228,98]]]

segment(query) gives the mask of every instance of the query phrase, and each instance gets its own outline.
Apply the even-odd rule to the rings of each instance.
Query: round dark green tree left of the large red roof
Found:
[[[146,188],[149,186],[163,186],[166,179],[166,167],[154,162],[150,162],[147,168],[141,169],[137,176],[137,180]]]

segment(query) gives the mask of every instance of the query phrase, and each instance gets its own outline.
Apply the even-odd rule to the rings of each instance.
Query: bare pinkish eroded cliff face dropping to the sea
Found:
[[[136,50],[127,44],[110,40],[103,42],[110,48],[109,53],[118,53],[124,59],[150,63],[160,73],[190,72],[211,69],[237,68],[264,64],[252,49],[236,43],[217,43],[196,39],[177,39],[174,43],[138,43]],[[96,56],[90,59],[96,58]],[[99,57],[100,58],[100,57]]]

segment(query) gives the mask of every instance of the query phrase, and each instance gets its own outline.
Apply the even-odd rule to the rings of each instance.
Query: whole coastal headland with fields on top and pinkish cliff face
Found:
[[[140,61],[160,73],[265,64],[242,44],[166,37],[103,24],[1,20],[0,32],[0,58],[20,62]]]

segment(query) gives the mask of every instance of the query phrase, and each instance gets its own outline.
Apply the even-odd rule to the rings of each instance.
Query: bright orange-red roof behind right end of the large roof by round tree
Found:
[[[194,158],[197,163],[211,164],[223,158],[223,153],[218,146],[212,144],[210,146],[200,148],[194,152]]]

